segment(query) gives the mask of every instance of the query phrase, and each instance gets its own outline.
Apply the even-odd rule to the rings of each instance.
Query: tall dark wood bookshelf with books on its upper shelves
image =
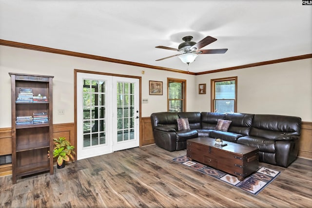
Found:
[[[53,174],[53,76],[9,73],[11,76],[12,108],[12,181],[22,176],[47,172]],[[33,96],[45,96],[46,101],[18,101],[20,90],[30,89]],[[22,93],[21,93],[22,94]],[[29,95],[28,95],[29,96]],[[30,95],[32,97],[32,95]],[[32,98],[29,98],[32,99]],[[48,121],[34,123],[34,113],[45,113]],[[17,117],[30,120],[17,121]]]

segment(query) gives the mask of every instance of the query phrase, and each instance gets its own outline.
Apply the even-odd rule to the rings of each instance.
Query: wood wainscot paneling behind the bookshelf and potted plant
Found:
[[[76,148],[74,135],[74,123],[53,124],[53,138],[65,137]],[[12,154],[12,128],[0,128],[0,156],[10,154]],[[10,174],[12,174],[12,164],[0,165],[0,176]]]

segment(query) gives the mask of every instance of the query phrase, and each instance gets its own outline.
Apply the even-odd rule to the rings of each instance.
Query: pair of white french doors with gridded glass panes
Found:
[[[139,146],[139,80],[77,73],[77,158]]]

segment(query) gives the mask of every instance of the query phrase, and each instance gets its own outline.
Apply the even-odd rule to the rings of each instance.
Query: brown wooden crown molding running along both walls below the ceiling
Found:
[[[310,53],[310,54],[305,54],[305,55],[298,55],[298,56],[280,58],[280,59],[275,59],[275,60],[270,60],[270,61],[263,61],[263,62],[257,62],[257,63],[252,63],[252,64],[245,64],[245,65],[241,65],[241,66],[235,66],[235,67],[229,67],[229,68],[223,68],[223,69],[215,69],[215,70],[195,73],[195,72],[183,71],[183,70],[178,70],[178,69],[157,67],[157,66],[141,64],[141,63],[131,62],[131,61],[125,61],[125,60],[120,60],[120,59],[108,58],[108,57],[103,57],[103,56],[98,56],[98,55],[91,55],[91,54],[86,54],[86,53],[72,52],[72,51],[48,48],[48,47],[37,46],[37,45],[32,45],[32,44],[14,42],[14,41],[9,41],[9,40],[0,39],[0,45],[15,47],[15,48],[28,49],[28,50],[34,50],[34,51],[40,51],[40,52],[57,53],[57,54],[61,54],[61,55],[69,55],[69,56],[75,56],[75,57],[79,57],[79,58],[88,58],[88,59],[94,59],[94,60],[99,60],[99,61],[113,62],[113,63],[117,63],[117,64],[132,65],[132,66],[144,67],[144,68],[150,68],[150,69],[173,71],[173,72],[192,74],[192,75],[209,74],[209,73],[216,73],[216,72],[221,72],[221,71],[230,71],[230,70],[236,70],[236,69],[258,67],[258,66],[263,66],[263,65],[268,65],[268,64],[276,64],[276,63],[281,63],[281,62],[288,62],[288,61],[295,61],[295,60],[312,58],[312,53]]]

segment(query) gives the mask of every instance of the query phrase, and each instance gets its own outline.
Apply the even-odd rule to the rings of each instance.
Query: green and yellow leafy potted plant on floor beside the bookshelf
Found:
[[[73,154],[75,147],[65,137],[59,137],[53,139],[55,148],[53,149],[53,157],[58,157],[57,165],[58,168],[65,167],[65,161],[69,161],[69,158],[74,159]],[[50,158],[50,151],[48,151],[48,157]]]

